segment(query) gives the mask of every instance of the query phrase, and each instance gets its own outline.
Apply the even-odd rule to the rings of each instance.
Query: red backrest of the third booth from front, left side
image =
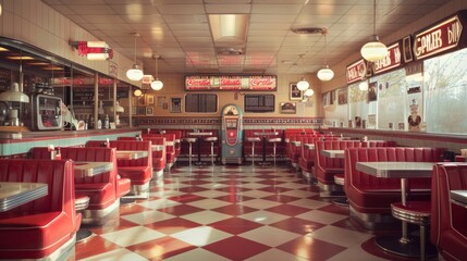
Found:
[[[89,140],[86,147],[101,147],[105,140]],[[151,141],[148,140],[111,140],[110,147],[119,150],[145,150],[149,157],[144,157],[137,160],[116,159],[119,166],[150,166],[152,167],[152,148]]]

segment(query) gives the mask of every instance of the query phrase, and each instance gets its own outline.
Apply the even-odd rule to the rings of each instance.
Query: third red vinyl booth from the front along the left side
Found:
[[[89,140],[86,147],[101,147],[107,141]],[[152,148],[151,141],[137,140],[111,140],[110,147],[119,150],[143,150],[148,157],[142,159],[116,159],[118,173],[123,178],[130,178],[131,191],[133,196],[148,197],[149,182],[152,178]]]

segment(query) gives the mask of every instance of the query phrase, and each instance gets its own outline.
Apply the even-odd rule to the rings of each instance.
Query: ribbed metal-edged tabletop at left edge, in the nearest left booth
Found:
[[[0,183],[0,212],[44,197],[48,194],[47,184],[42,183]]]

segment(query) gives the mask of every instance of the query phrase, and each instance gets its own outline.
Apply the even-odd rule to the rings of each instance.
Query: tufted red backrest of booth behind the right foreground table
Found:
[[[444,149],[442,148],[372,147],[347,149],[345,151],[345,188],[401,188],[398,178],[379,178],[357,171],[356,163],[359,161],[437,162],[443,152]],[[430,187],[430,178],[410,178],[410,184],[427,188]]]

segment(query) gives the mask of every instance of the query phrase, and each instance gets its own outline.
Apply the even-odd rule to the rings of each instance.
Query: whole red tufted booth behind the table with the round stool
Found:
[[[391,214],[391,203],[401,201],[401,179],[379,178],[356,170],[357,161],[437,162],[441,148],[373,147],[345,150],[345,185],[352,211]],[[426,199],[430,178],[410,178],[410,200]]]

